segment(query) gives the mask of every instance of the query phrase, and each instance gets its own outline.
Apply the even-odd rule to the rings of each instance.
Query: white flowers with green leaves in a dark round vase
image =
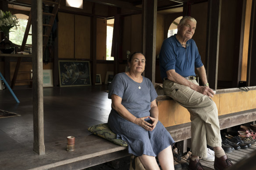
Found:
[[[10,11],[3,12],[0,10],[0,31],[4,33],[4,39],[0,42],[0,51],[10,54],[14,51],[14,44],[8,39],[10,29],[16,27],[18,21],[15,15],[12,15]]]

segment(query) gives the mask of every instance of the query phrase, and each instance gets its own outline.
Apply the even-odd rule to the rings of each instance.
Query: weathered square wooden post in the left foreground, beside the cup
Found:
[[[34,148],[45,154],[43,129],[43,7],[42,0],[31,1],[32,12],[32,68],[33,68],[33,124]]]

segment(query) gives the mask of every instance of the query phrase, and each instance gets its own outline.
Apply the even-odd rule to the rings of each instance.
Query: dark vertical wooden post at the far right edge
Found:
[[[247,86],[256,86],[256,1],[252,1],[251,24],[249,35]]]

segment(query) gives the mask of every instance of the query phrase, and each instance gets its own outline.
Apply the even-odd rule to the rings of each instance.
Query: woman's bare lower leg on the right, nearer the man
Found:
[[[158,160],[163,170],[174,170],[171,146],[165,148],[158,154]]]

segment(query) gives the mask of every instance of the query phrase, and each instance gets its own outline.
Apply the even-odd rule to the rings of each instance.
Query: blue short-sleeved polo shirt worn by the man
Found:
[[[159,54],[162,79],[167,77],[166,71],[170,69],[183,77],[196,76],[195,67],[203,66],[201,56],[193,39],[186,45],[186,48],[181,46],[176,34],[164,40]]]

